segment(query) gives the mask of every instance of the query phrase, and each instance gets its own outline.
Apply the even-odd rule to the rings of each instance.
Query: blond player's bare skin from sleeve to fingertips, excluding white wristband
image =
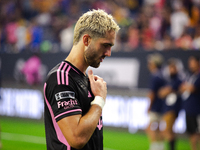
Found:
[[[102,78],[94,76],[92,71],[89,71],[88,75],[94,96],[101,96],[105,100],[107,95],[106,82]],[[76,149],[82,148],[96,129],[101,114],[102,108],[94,104],[84,116],[73,115],[58,121],[69,145]]]

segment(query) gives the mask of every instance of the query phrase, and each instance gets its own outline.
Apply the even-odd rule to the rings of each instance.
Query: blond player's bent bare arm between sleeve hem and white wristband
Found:
[[[92,136],[102,109],[98,105],[92,105],[84,116],[73,115],[58,121],[58,125],[70,146],[76,149],[82,148]]]

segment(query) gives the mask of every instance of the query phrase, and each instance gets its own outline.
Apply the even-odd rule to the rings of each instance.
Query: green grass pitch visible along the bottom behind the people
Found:
[[[45,150],[42,121],[1,118],[2,150]],[[144,133],[130,134],[116,129],[104,129],[104,150],[148,150]],[[179,138],[177,150],[190,150],[187,139]]]

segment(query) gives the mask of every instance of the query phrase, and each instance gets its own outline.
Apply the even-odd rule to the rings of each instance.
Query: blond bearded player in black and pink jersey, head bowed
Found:
[[[48,150],[103,150],[102,109],[106,82],[86,74],[111,56],[119,26],[103,10],[83,14],[74,29],[73,47],[44,84]],[[66,41],[67,42],[67,41]]]

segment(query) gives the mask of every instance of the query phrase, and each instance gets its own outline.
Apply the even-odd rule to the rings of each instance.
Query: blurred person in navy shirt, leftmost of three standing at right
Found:
[[[150,107],[148,110],[150,123],[146,129],[150,139],[149,150],[164,150],[164,142],[159,129],[161,121],[163,100],[158,97],[158,91],[165,85],[161,68],[163,64],[162,55],[155,53],[147,57],[148,68],[151,72],[150,90],[148,97],[150,99]]]

